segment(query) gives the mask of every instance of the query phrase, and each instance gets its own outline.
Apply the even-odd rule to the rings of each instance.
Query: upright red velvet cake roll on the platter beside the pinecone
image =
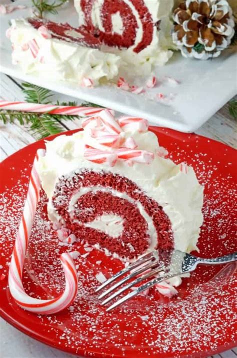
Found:
[[[163,65],[171,57],[173,0],[74,0],[79,25],[133,67]],[[138,56],[135,56],[138,55]]]

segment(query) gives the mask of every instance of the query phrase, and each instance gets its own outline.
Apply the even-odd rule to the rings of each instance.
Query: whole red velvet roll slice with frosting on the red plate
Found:
[[[83,128],[46,142],[39,173],[49,219],[124,261],[154,248],[195,249],[203,190],[193,169],[165,158],[140,118],[104,110]]]

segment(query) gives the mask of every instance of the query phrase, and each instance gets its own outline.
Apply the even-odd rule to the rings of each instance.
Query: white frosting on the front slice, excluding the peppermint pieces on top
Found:
[[[39,174],[42,187],[49,198],[49,212],[53,209],[50,208],[50,199],[60,176],[69,175],[78,169],[108,171],[127,177],[163,207],[171,222],[176,249],[187,252],[195,249],[199,227],[203,220],[201,213],[203,188],[198,183],[193,169],[188,167],[185,174],[180,171],[180,166],[175,165],[170,159],[158,157],[156,155],[158,142],[152,132],[127,132],[125,135],[133,137],[138,149],[155,154],[151,164],[134,163],[129,167],[125,161],[118,160],[114,167],[109,167],[106,164],[96,164],[86,160],[83,156],[85,143],[105,150],[104,146],[95,141],[88,143],[89,137],[86,131],[71,136],[62,135],[51,142],[46,142],[46,155],[40,158]],[[51,212],[50,217],[57,218],[55,212]]]

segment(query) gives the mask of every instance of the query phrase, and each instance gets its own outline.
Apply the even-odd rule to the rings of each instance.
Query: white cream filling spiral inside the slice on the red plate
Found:
[[[156,233],[156,230],[155,230],[155,227],[154,227],[154,224],[153,224],[153,220],[146,213],[146,211],[144,210],[144,208],[141,205],[141,203],[139,201],[137,201],[137,200],[132,199],[126,193],[121,193],[121,192],[119,192],[117,190],[110,189],[110,188],[104,188],[104,187],[101,187],[101,186],[82,187],[82,188],[79,189],[79,191],[76,194],[74,194],[72,196],[72,198],[71,198],[71,200],[69,202],[68,212],[70,213],[71,218],[73,217],[74,205],[76,204],[77,200],[84,194],[87,194],[87,193],[90,193],[90,192],[91,193],[96,193],[97,191],[102,191],[104,193],[111,193],[113,196],[119,197],[121,199],[125,199],[125,200],[129,201],[130,203],[132,203],[135,207],[137,207],[139,212],[140,212],[140,214],[141,214],[141,216],[145,219],[145,222],[147,223],[147,226],[148,226],[147,234],[149,235],[149,238],[150,238],[149,249],[153,249],[154,247],[156,247],[156,245],[157,245],[157,233]],[[77,222],[77,220],[76,221],[73,220],[73,222]],[[79,222],[79,218],[78,218],[78,222]],[[94,224],[97,226],[97,228],[100,231],[106,232],[104,230],[104,227],[105,227],[104,220],[101,220],[101,217],[98,218],[98,220],[96,220],[96,223],[94,223]],[[84,224],[84,225],[88,226],[88,227],[91,227],[91,223],[87,223],[87,224]],[[108,228],[108,225],[107,225],[107,228]],[[111,228],[111,230],[112,230],[112,228]],[[118,230],[118,229],[116,229],[116,230]],[[110,235],[110,236],[118,237],[119,235],[117,235],[117,236]]]

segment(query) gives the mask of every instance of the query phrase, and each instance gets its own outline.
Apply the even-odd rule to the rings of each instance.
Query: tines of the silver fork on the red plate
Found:
[[[121,303],[127,301],[133,296],[141,293],[142,291],[146,290],[147,288],[153,286],[155,283],[161,282],[166,278],[169,278],[168,275],[165,277],[156,277],[143,285],[136,286],[142,281],[147,280],[149,277],[152,277],[158,274],[161,271],[165,271],[164,266],[160,265],[158,254],[156,251],[150,252],[141,256],[138,260],[131,263],[121,271],[117,272],[115,275],[110,277],[108,280],[103,282],[97,289],[96,292],[100,291],[102,288],[108,286],[112,282],[114,282],[117,278],[125,275],[123,278],[115,282],[112,286],[107,288],[102,294],[100,294],[99,299],[105,297],[109,293],[111,293],[107,298],[102,301],[102,305],[110,302],[113,298],[120,295],[122,292],[126,291],[127,289],[132,289],[127,295],[123,296],[122,298],[118,299],[115,303],[109,306],[106,311],[110,311],[111,309],[115,308],[116,306],[120,305]],[[123,285],[125,282],[128,282],[126,285]],[[121,286],[121,287],[120,287]],[[120,288],[119,288],[120,287]],[[116,290],[116,288],[118,288]]]

